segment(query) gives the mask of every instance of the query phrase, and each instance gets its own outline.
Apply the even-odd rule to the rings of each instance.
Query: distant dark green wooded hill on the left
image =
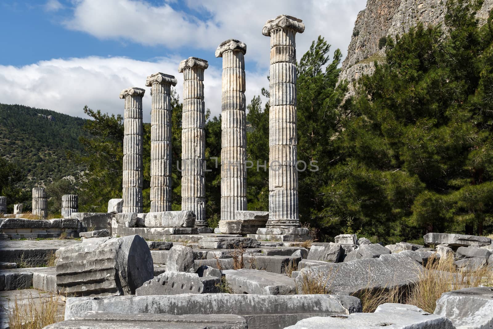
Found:
[[[84,170],[67,156],[82,154],[79,137],[86,120],[51,110],[0,104],[0,157],[18,165],[18,187],[47,185]]]

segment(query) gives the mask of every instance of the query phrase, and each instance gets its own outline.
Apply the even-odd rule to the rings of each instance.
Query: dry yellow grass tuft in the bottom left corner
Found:
[[[39,299],[30,296],[27,304],[20,304],[15,299],[14,308],[8,314],[10,329],[41,329],[63,321],[61,316],[57,316],[58,302],[59,296],[53,294],[47,300],[41,298],[41,294]]]

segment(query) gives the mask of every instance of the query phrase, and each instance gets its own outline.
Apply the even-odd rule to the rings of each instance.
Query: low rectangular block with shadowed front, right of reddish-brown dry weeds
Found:
[[[244,255],[245,268],[265,270],[271,273],[285,274],[298,269],[301,257]]]

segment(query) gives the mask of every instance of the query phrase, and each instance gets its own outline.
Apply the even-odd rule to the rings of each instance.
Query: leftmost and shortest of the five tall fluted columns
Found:
[[[123,137],[123,212],[142,212],[142,97],[144,89],[127,88],[120,93],[125,99]]]

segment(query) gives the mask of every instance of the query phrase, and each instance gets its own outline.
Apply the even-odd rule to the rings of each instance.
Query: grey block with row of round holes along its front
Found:
[[[219,292],[217,287],[220,277],[199,277],[196,273],[166,271],[165,273],[144,282],[137,288],[136,295],[176,295],[180,293],[213,293]]]

